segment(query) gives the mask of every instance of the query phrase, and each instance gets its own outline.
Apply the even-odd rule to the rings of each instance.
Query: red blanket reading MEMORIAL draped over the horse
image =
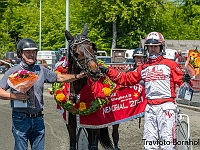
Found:
[[[102,128],[144,115],[147,103],[144,87],[141,84],[130,87],[115,85],[115,88],[116,86],[117,90],[112,92],[108,104],[90,115],[77,115],[78,127]],[[96,99],[102,88],[102,81],[89,81],[79,92],[80,101],[91,102]],[[62,113],[66,120],[66,110],[62,110]]]

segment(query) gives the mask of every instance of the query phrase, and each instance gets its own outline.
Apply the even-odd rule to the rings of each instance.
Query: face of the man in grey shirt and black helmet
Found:
[[[36,50],[25,50],[22,51],[22,59],[26,64],[32,65],[36,60]]]

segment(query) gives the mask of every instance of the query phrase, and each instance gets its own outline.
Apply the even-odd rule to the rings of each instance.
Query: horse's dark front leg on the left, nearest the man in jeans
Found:
[[[69,122],[66,124],[70,139],[70,150],[76,150],[76,116],[69,113]]]

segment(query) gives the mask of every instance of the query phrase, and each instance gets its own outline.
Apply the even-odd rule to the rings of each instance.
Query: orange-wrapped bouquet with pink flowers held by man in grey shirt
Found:
[[[26,93],[35,83],[38,76],[31,71],[17,70],[8,76],[8,85],[21,93]]]

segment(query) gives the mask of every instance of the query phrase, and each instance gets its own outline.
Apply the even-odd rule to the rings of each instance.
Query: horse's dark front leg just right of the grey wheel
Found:
[[[89,150],[98,150],[99,129],[86,129],[88,132]]]

